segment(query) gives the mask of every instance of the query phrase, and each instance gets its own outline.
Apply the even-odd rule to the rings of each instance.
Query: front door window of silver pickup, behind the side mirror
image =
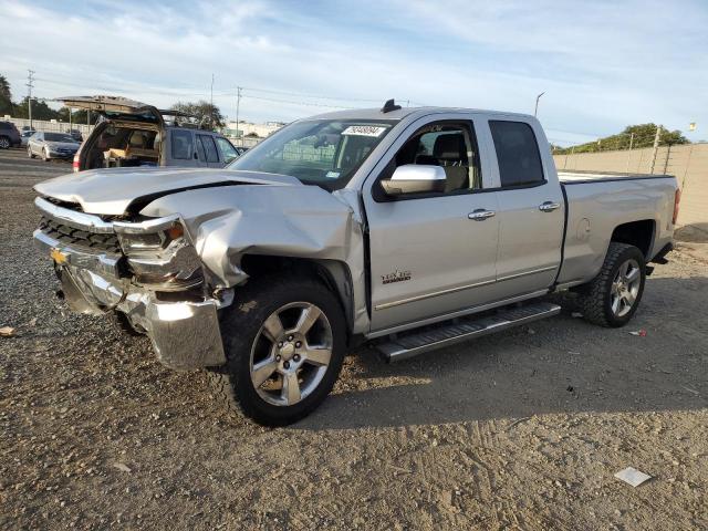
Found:
[[[435,122],[416,131],[382,178],[389,178],[395,168],[407,164],[441,166],[445,169],[445,191],[435,195],[472,191],[482,187],[471,122]]]

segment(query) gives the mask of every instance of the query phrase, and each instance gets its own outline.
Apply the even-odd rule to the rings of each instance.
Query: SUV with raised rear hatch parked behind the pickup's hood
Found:
[[[126,166],[222,168],[239,155],[218,133],[180,126],[177,121],[168,125],[165,116],[179,114],[175,111],[113,96],[59,101],[102,116],[76,153],[74,171]]]

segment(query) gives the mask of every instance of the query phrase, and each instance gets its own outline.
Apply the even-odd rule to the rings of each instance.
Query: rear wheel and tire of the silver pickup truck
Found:
[[[579,304],[585,320],[601,326],[624,326],[639,306],[645,282],[642,251],[634,246],[611,242],[597,277],[579,290]]]

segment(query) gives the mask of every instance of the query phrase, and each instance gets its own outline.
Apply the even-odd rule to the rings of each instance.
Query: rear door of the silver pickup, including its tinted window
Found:
[[[500,299],[549,288],[561,263],[565,202],[550,154],[541,154],[535,122],[490,119],[500,188],[497,191]],[[545,156],[544,156],[545,155]]]

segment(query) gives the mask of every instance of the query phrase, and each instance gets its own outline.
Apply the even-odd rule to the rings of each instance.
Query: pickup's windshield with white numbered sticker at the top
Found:
[[[229,169],[291,175],[329,190],[344,187],[396,122],[295,122],[231,163]]]

